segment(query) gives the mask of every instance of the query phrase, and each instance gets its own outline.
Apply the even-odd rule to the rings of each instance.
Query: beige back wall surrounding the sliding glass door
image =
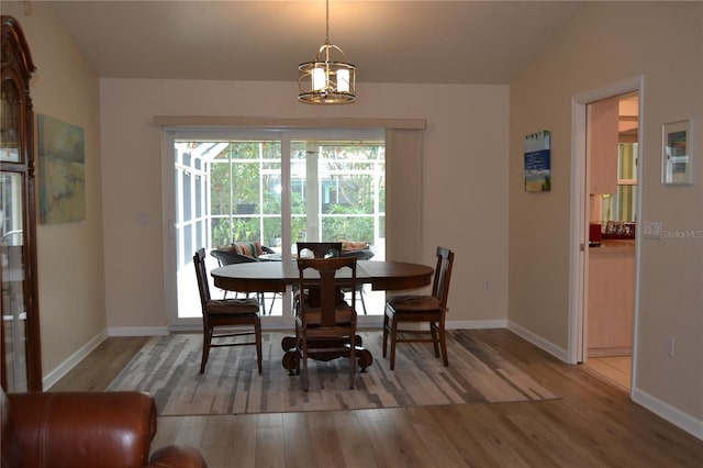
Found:
[[[166,324],[161,129],[154,115],[427,119],[423,263],[456,250],[449,320],[506,320],[507,87],[365,85],[358,102],[310,107],[295,82],[101,79],[108,324]],[[146,213],[148,225],[137,223]],[[493,285],[483,291],[484,280]]]

